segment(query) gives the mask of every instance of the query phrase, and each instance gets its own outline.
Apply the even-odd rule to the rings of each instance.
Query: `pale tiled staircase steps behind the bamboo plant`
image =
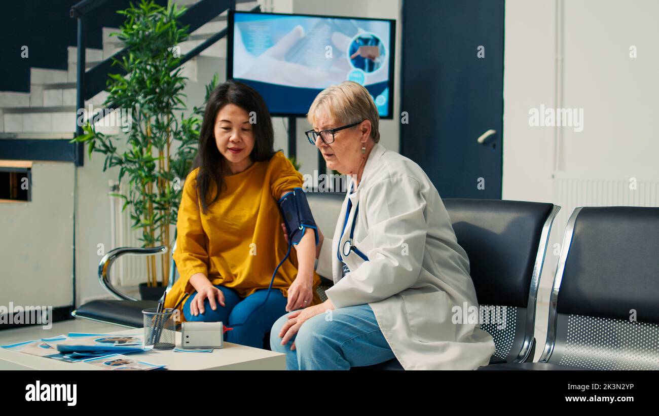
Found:
[[[195,0],[177,0],[178,5],[190,5]],[[257,1],[236,1],[236,9],[251,10]],[[204,40],[210,38],[227,26],[227,13],[210,20],[198,30],[192,32],[188,40],[181,43],[181,56],[191,51]],[[86,48],[86,70],[92,68],[115,52],[123,49],[123,43],[116,36],[118,28],[103,28],[103,49]],[[200,56],[226,59],[227,39],[221,38],[208,47]],[[68,70],[46,68],[30,68],[30,92],[0,91],[0,139],[71,139],[76,126],[76,65],[77,50],[75,46],[67,48]],[[188,83],[201,82],[208,84],[210,80],[198,80],[198,57],[192,58],[183,65],[183,75],[188,77]],[[87,120],[89,105],[94,111],[103,108],[107,92],[102,91],[92,99],[85,101],[84,120]],[[199,103],[190,103],[198,105]],[[107,123],[106,123],[107,124]],[[97,131],[105,134],[117,134],[119,127],[98,127]],[[0,155],[0,159],[3,157]]]

